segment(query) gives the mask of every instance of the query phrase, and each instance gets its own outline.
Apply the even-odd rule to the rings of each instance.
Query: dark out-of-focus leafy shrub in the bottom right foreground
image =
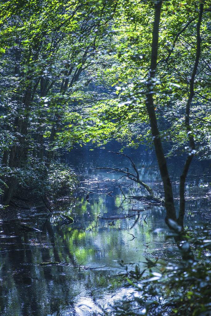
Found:
[[[127,283],[134,293],[115,306],[116,315],[211,315],[210,257],[211,226],[199,223],[187,241],[195,253],[193,258],[168,258],[167,262],[146,259],[146,268],[140,271],[126,268]],[[185,252],[187,245],[181,250]],[[121,263],[123,265],[123,263]],[[148,273],[148,274],[147,274]],[[146,275],[147,274],[147,275]]]

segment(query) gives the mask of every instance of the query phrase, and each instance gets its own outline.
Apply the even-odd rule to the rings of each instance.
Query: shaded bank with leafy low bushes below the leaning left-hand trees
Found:
[[[19,168],[16,172],[17,189],[9,205],[1,203],[3,220],[22,218],[26,214],[30,216],[40,210],[49,211],[49,203],[55,203],[62,196],[73,195],[79,181],[71,167],[55,162],[51,164],[47,177],[44,176],[44,168],[44,163],[24,167],[24,172]],[[2,173],[4,168],[1,169]],[[11,176],[8,169],[4,173],[5,182]]]

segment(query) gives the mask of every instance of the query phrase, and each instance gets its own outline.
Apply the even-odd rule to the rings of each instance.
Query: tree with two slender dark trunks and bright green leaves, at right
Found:
[[[150,125],[170,228],[172,220],[183,227],[185,180],[193,157],[196,153],[204,157],[205,151],[210,156],[210,115],[204,112],[205,107],[210,108],[209,6],[210,2],[204,1],[179,5],[174,1],[133,2],[131,7],[125,4],[121,21],[113,28],[119,40],[113,47],[118,60],[110,76],[113,84],[118,84],[117,95],[97,105],[104,128],[107,122],[116,122],[116,132],[122,128],[133,132],[135,126],[133,135],[138,137],[131,145],[143,142],[145,136],[150,138]],[[147,131],[141,126],[145,128],[146,124]],[[202,143],[202,135],[208,143]],[[187,153],[180,177],[178,217],[163,150],[166,140],[171,154],[179,147]]]

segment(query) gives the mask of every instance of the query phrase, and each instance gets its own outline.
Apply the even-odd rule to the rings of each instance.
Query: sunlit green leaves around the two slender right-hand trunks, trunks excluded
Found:
[[[112,67],[104,69],[115,87],[112,98],[99,101],[90,112],[101,119],[116,123],[116,130],[129,130],[133,137],[128,144],[152,144],[146,112],[147,73],[150,69],[154,2],[122,3],[121,19],[109,30],[114,33]],[[210,2],[204,5],[200,34],[201,55],[194,82],[190,126],[195,137],[197,155],[210,157]],[[128,9],[130,8],[130,9]],[[162,3],[156,78],[152,80],[153,99],[160,137],[167,156],[189,152],[185,127],[185,106],[196,53],[197,1]],[[205,44],[206,43],[206,44]],[[100,52],[103,55],[103,52]],[[104,127],[105,128],[105,127]],[[114,133],[111,135],[113,137]]]

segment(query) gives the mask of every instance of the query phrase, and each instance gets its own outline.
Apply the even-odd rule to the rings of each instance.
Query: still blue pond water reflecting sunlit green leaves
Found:
[[[139,149],[125,154],[133,158],[142,181],[162,196],[153,153]],[[66,161],[80,179],[73,199],[57,201],[52,206],[53,216],[41,207],[34,209],[32,216],[20,218],[17,213],[12,220],[1,220],[0,315],[46,316],[55,311],[60,316],[103,314],[130,291],[121,287],[119,273],[123,270],[118,261],[142,262],[147,249],[153,252],[164,247],[168,232],[164,207],[125,199],[146,193],[125,177],[120,179],[120,173],[92,170],[130,168],[126,157],[105,149],[78,149],[66,155]],[[169,165],[177,198],[182,158],[172,159]],[[185,225],[189,229],[195,221],[206,220],[210,212],[205,197],[208,182],[207,164],[194,162],[186,186]],[[66,225],[60,212],[72,216],[76,223]],[[24,232],[21,223],[40,232]],[[154,232],[156,228],[164,230]],[[59,264],[40,265],[43,262]]]

